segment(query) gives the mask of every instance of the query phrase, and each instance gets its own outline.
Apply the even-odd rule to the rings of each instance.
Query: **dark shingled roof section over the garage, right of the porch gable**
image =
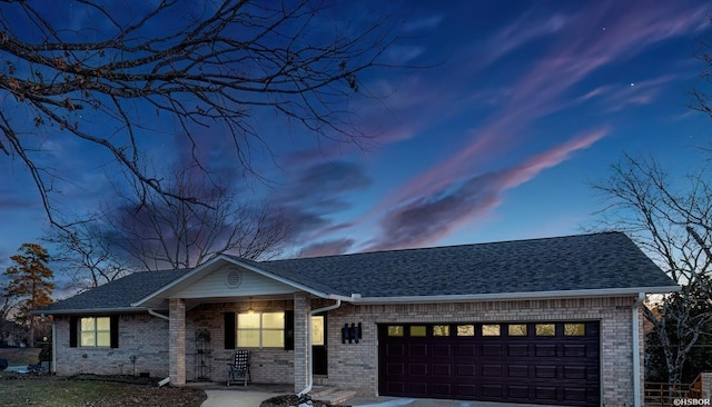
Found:
[[[260,267],[362,297],[676,287],[622,232],[276,260]]]

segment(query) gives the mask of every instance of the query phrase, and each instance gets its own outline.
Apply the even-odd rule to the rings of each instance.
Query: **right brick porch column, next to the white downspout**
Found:
[[[309,384],[309,311],[306,292],[294,295],[294,390],[301,391]]]

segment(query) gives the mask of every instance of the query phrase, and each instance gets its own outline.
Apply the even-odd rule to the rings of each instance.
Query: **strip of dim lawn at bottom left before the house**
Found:
[[[198,407],[206,399],[205,391],[195,388],[159,388],[102,379],[83,380],[2,371],[0,371],[0,394],[3,407]]]

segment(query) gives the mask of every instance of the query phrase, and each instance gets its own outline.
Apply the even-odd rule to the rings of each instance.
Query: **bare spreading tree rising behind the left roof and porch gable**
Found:
[[[206,205],[169,199],[135,182],[132,191],[117,191],[118,198],[92,221],[58,229],[48,238],[63,247],[75,280],[83,288],[132,269],[195,267],[224,252],[246,259],[280,252],[287,222],[273,206],[240,199],[230,177],[208,176],[195,162],[169,172],[167,190]]]

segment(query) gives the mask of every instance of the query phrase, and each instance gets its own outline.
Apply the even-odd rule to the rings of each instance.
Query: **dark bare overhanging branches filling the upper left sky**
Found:
[[[347,6],[0,0],[0,151],[29,169],[57,224],[52,197],[71,180],[43,163],[44,141],[57,132],[53,143],[98,147],[141,188],[194,204],[145,170],[145,140],[178,135],[196,147],[209,129],[248,172],[255,148],[270,149],[258,118],[358,142],[365,135],[348,101],[362,73],[385,66],[397,24],[390,16],[363,23],[333,12]]]

